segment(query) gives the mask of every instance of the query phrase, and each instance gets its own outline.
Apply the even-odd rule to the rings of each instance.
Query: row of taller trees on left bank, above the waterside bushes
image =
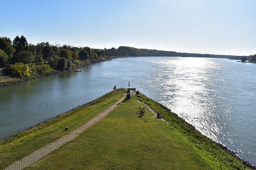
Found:
[[[49,42],[41,42],[36,45],[28,44],[26,37],[18,35],[11,40],[7,37],[0,37],[0,65],[14,63],[39,63],[50,61],[52,66],[60,58],[65,58],[67,62],[77,59],[86,60],[90,58],[118,56],[116,49],[91,49],[90,47],[72,47],[70,45],[59,44],[50,45]]]

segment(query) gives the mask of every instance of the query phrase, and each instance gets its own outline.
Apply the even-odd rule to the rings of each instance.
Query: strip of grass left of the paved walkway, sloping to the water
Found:
[[[117,90],[116,99],[123,96],[124,89]],[[90,102],[86,106],[74,109],[68,113],[59,115],[41,123],[30,130],[17,133],[0,142],[0,168],[30,154],[34,150],[60,138],[70,131],[82,126],[98,113],[114,104],[114,92],[105,94],[101,98]],[[63,131],[68,126],[68,131]]]

